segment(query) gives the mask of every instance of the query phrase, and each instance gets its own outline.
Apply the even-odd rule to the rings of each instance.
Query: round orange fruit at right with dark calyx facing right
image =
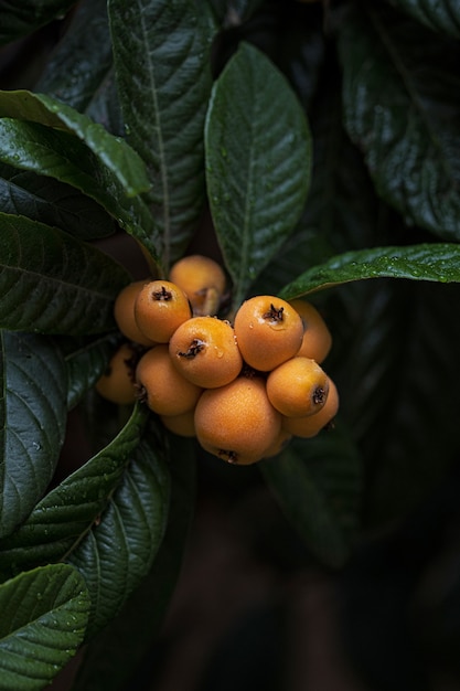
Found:
[[[329,379],[311,358],[296,355],[279,364],[267,378],[271,405],[288,417],[313,415],[328,398]]]

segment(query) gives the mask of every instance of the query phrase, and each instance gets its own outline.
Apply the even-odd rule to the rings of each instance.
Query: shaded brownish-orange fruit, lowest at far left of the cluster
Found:
[[[135,366],[136,350],[122,343],[110,358],[105,373],[96,383],[96,391],[107,401],[128,405],[136,401]]]

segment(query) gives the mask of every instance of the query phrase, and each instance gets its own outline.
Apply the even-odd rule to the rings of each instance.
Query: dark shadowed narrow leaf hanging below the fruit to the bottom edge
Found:
[[[174,438],[171,506],[153,565],[117,617],[86,647],[74,691],[105,691],[108,685],[111,691],[122,691],[138,673],[161,629],[179,577],[194,508],[194,446],[189,442]]]

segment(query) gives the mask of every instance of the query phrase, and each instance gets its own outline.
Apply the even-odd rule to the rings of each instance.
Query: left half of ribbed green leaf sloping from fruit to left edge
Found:
[[[147,416],[147,408],[137,406],[108,446],[43,497],[28,520],[0,542],[1,574],[10,577],[62,560],[90,531],[133,458]]]

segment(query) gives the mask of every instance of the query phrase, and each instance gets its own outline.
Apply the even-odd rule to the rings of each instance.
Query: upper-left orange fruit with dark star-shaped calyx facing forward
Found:
[[[170,280],[151,280],[135,301],[136,323],[147,338],[158,343],[168,343],[175,329],[191,316],[189,298]]]

